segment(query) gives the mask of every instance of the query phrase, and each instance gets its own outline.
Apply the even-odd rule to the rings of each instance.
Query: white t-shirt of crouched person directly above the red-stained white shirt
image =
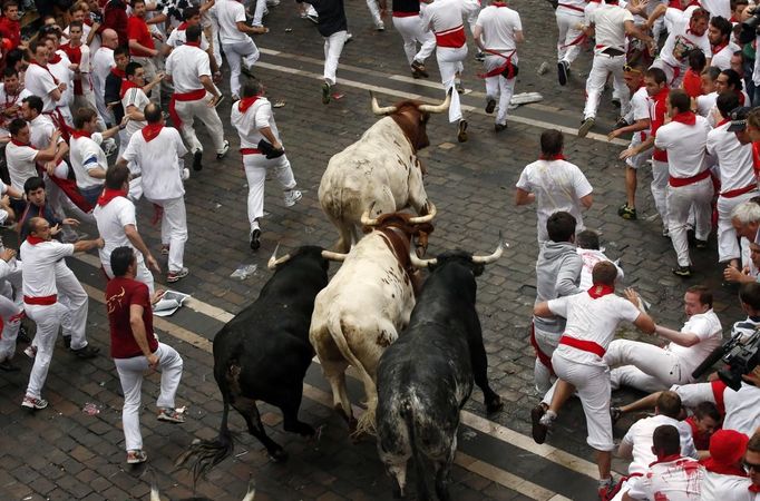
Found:
[[[673,418],[657,414],[651,418],[644,418],[629,429],[629,432],[623,436],[623,442],[633,445],[633,461],[629,465],[629,474],[644,473],[650,464],[657,460],[657,456],[652,452],[654,430],[663,424],[675,426],[681,438],[681,455],[689,458],[696,458],[696,449],[694,448],[694,439],[691,434],[691,426]]]

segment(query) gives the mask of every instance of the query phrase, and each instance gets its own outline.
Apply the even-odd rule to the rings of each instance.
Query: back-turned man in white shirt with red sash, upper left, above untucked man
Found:
[[[208,55],[199,47],[201,26],[191,26],[185,32],[187,42],[174,49],[166,59],[166,75],[174,84],[169,114],[174,126],[182,130],[193,153],[193,169],[201,170],[203,144],[195,135],[195,118],[203,121],[208,129],[217,160],[227,154],[230,143],[224,139],[222,120],[216,112],[222,95],[211,79]]]

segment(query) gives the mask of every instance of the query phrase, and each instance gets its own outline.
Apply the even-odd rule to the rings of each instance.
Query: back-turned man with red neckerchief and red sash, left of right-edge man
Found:
[[[673,274],[686,278],[692,274],[686,236],[690,214],[694,215],[698,248],[707,247],[712,230],[713,188],[705,159],[710,124],[691,110],[691,99],[680,89],[668,96],[668,115],[671,121],[657,129],[654,146],[668,153],[668,230],[678,257]]]

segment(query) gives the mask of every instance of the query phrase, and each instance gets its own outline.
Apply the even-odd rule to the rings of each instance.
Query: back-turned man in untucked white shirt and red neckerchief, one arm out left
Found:
[[[150,104],[143,114],[148,125],[129,139],[129,146],[117,165],[134,163],[143,173],[145,198],[164,209],[160,226],[166,239],[162,237],[162,240],[169,245],[166,282],[174,283],[189,273],[183,265],[187,216],[182,157],[187,149],[177,129],[164,126],[164,115],[158,106]]]

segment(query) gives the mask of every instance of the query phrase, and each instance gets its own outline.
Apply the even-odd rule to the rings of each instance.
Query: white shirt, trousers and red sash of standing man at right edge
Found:
[[[742,145],[729,132],[730,120],[723,120],[708,134],[708,155],[718,163],[721,191],[718,198],[718,262],[741,257],[737,232],[731,224],[733,208],[758,195],[752,145]]]

